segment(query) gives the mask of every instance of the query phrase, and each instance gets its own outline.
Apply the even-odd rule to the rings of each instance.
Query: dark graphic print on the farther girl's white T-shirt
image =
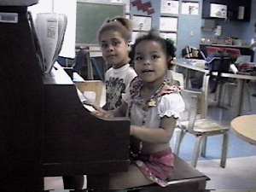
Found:
[[[106,81],[106,108],[112,110],[121,105],[122,93],[125,93],[124,79],[110,77]]]

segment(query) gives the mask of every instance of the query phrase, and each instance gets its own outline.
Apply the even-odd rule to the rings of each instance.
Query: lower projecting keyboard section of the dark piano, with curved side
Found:
[[[79,101],[75,84],[55,65],[44,75],[44,143],[46,176],[125,172],[129,166],[130,120],[98,119]]]

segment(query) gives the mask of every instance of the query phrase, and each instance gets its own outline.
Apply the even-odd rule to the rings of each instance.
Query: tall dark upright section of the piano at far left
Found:
[[[0,191],[44,189],[40,155],[44,94],[26,7],[0,6],[17,23],[0,22]]]

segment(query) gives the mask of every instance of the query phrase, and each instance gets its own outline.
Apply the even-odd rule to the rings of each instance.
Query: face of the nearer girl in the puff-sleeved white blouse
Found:
[[[163,48],[153,40],[143,40],[135,48],[134,67],[147,83],[160,84],[166,75],[167,57]]]

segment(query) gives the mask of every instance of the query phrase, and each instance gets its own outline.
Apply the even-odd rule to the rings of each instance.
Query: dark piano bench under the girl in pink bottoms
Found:
[[[169,180],[169,185],[161,187],[153,183],[128,191],[133,192],[202,192],[207,191],[206,184],[209,177],[197,171],[194,167],[190,166],[187,162],[180,159],[175,155],[174,170],[172,177]]]

